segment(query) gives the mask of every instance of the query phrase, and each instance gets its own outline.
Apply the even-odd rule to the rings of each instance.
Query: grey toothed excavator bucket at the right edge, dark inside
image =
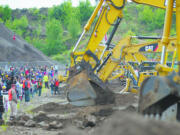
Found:
[[[168,108],[179,104],[180,84],[174,82],[176,76],[177,73],[173,72],[166,77],[152,76],[145,79],[140,88],[139,112],[162,116]],[[178,110],[176,117],[179,117]]]

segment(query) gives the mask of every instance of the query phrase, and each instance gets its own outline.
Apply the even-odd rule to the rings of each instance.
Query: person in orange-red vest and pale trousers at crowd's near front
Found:
[[[17,114],[17,95],[16,95],[16,85],[12,84],[11,89],[8,91],[9,104],[10,104],[10,120],[14,119]]]

